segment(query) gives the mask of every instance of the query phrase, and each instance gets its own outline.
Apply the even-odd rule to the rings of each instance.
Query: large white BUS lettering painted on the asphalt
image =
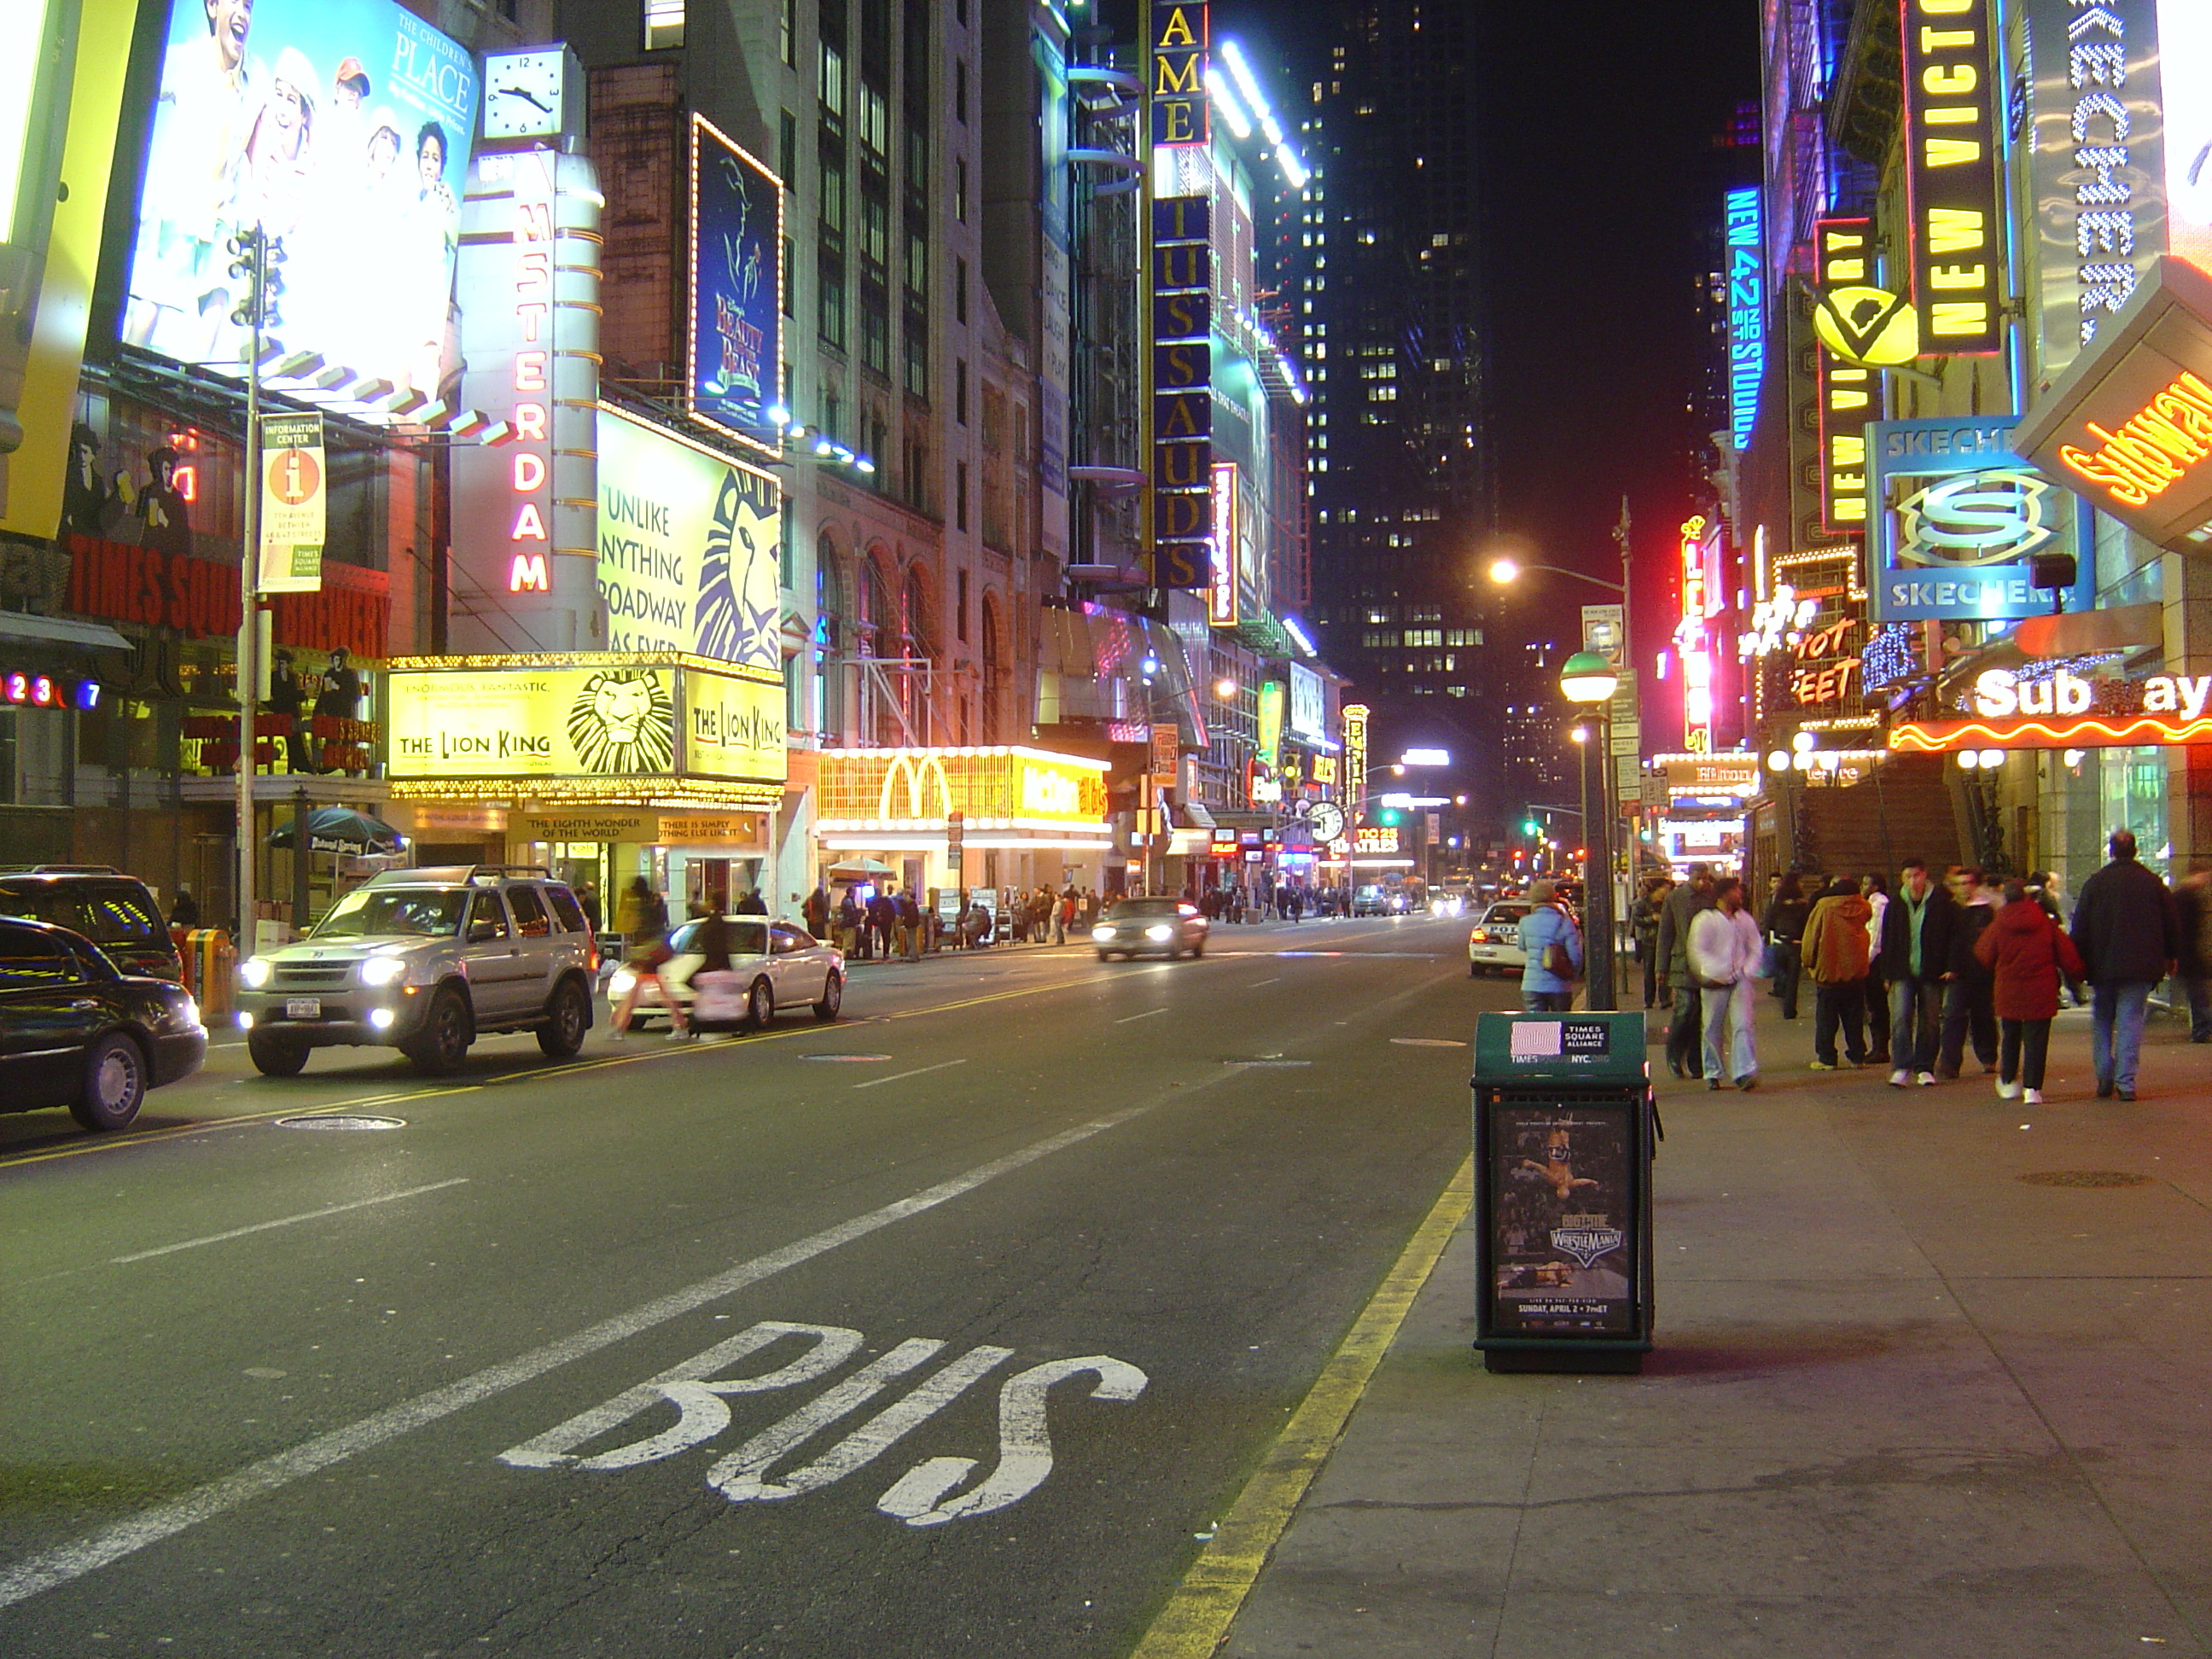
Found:
[[[706,1380],[712,1371],[734,1365],[785,1338],[807,1338],[812,1347],[759,1376]],[[681,1451],[714,1440],[730,1427],[728,1396],[768,1394],[801,1387],[827,1376],[860,1349],[860,1332],[845,1325],[796,1325],[761,1321],[681,1365],[672,1365],[646,1383],[624,1389],[613,1400],[580,1411],[520,1447],[500,1453],[511,1469],[584,1469],[617,1473],[648,1462],[675,1458]],[[898,1440],[967,1394],[989,1371],[1013,1358],[1011,1347],[982,1343],[922,1380],[911,1394],[894,1400],[858,1429],[814,1460],[770,1480],[768,1471],[807,1440],[883,1394],[891,1383],[927,1365],[945,1343],[933,1336],[909,1336],[887,1354],[863,1365],[821,1396],[768,1425],[737,1451],[726,1453],[706,1473],[706,1484],[732,1504],[801,1498],[821,1491],[845,1475],[865,1469]],[[1046,1394],[1055,1383],[1095,1376],[1093,1400],[1135,1400],[1146,1389],[1146,1374],[1106,1354],[1071,1360],[1046,1360],[1006,1378],[998,1396],[998,1467],[964,1493],[956,1493],[978,1458],[925,1458],[891,1482],[876,1509],[907,1526],[942,1526],[945,1522],[989,1515],[1018,1504],[1053,1473],[1053,1440],[1044,1416]],[[628,1444],[580,1455],[582,1447],[606,1436],[659,1405],[677,1407],[677,1420]]]

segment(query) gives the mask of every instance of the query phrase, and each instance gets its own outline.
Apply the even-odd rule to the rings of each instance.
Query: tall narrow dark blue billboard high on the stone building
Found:
[[[783,407],[783,186],[692,115],[692,414],[770,453]]]

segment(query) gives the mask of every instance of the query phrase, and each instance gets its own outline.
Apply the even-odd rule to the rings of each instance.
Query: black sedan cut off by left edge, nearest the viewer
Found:
[[[0,916],[0,1110],[69,1106],[84,1128],[128,1128],[148,1088],[206,1055],[181,984],[117,973],[66,927]]]

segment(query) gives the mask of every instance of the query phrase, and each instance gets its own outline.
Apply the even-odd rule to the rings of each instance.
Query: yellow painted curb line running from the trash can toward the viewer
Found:
[[[1469,1157],[1451,1177],[1429,1219],[1398,1256],[1398,1265],[1389,1270],[1329,1363],[1321,1367],[1321,1376],[1283,1425],[1259,1471],[1237,1493],[1228,1517],[1183,1573],[1168,1606],[1130,1650],[1130,1659],[1208,1659],[1228,1637],[1230,1621],[1252,1593],[1305,1489],[1314,1484],[1352,1409],[1367,1394],[1413,1296],[1467,1219],[1473,1203],[1473,1168],[1475,1161]]]

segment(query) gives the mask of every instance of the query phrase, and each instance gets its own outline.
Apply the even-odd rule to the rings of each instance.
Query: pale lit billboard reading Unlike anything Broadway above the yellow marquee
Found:
[[[611,650],[783,670],[776,480],[599,409],[599,599]]]

